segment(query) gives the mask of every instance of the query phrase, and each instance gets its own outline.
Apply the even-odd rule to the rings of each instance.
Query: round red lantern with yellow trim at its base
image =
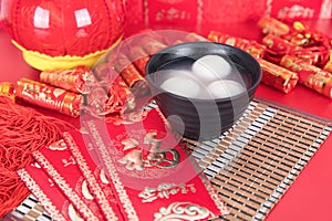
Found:
[[[116,44],[123,0],[2,0],[1,17],[24,60],[39,70],[91,66]]]

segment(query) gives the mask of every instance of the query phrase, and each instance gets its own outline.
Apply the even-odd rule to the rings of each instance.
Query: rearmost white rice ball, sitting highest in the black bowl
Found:
[[[193,74],[203,82],[212,82],[225,78],[231,73],[230,63],[219,55],[205,55],[195,61]]]

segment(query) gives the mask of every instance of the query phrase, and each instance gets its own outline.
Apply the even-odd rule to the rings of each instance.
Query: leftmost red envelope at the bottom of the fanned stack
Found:
[[[53,220],[68,221],[82,219],[79,210],[74,208],[71,201],[37,162],[20,169],[18,175]]]

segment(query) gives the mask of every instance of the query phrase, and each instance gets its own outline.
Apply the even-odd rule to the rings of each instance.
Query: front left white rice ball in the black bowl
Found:
[[[174,76],[167,78],[160,84],[160,87],[167,92],[184,97],[195,98],[199,94],[199,84],[195,80],[186,76]]]

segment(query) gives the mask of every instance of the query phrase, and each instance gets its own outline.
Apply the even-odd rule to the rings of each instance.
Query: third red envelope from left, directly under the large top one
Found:
[[[118,218],[122,220],[122,213],[116,198],[110,186],[104,170],[98,167],[98,159],[91,146],[89,137],[84,137],[80,131],[73,130],[63,134],[63,139],[74,157],[84,179],[87,181],[92,194],[94,194],[101,210],[107,220]]]

